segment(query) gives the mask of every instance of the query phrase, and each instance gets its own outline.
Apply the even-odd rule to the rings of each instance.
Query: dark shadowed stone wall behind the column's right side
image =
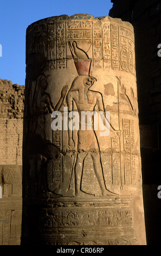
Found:
[[[113,0],[109,15],[131,22],[135,33],[136,72],[143,173],[145,221],[148,245],[159,243],[161,124],[161,3],[159,0]]]

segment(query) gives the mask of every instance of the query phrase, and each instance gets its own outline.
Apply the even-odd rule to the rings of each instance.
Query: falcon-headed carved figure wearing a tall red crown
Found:
[[[74,46],[76,47],[76,44]],[[77,53],[77,55],[79,53],[80,57],[85,56],[84,58],[86,58],[86,54],[80,48],[79,49],[74,48],[74,51]],[[103,99],[102,99],[101,93],[96,92],[94,90],[90,90],[94,82],[97,81],[95,77],[89,76],[90,60],[88,60],[85,63],[84,59],[82,59],[82,60],[78,60],[78,62],[79,63],[76,64],[76,61],[75,61],[78,74],[84,74],[84,75],[79,75],[72,82],[69,93],[67,93],[66,101],[67,101],[67,106],[69,108],[69,112],[73,111],[73,103],[75,103],[77,107],[77,111],[79,113],[79,123],[81,123],[80,117],[81,117],[82,111],[89,111],[92,113],[93,111],[95,111],[95,107],[97,106],[98,111],[102,111],[104,113],[104,105],[103,105]],[[94,122],[92,121],[92,123],[89,124],[88,121],[85,121],[85,124],[83,125],[85,129],[84,130],[79,129],[77,134],[78,141],[77,141],[77,159],[75,164],[75,195],[84,196],[87,194],[81,190],[83,165],[84,165],[84,160],[87,154],[91,155],[92,162],[94,165],[95,175],[96,175],[98,184],[100,185],[102,196],[113,194],[112,192],[107,190],[104,182],[103,169],[102,169],[101,156],[100,156],[100,147],[99,147],[98,139],[93,127]],[[88,125],[91,125],[90,130],[88,129]],[[69,129],[70,150],[72,150],[74,146],[75,146],[75,142],[72,139],[72,130]]]

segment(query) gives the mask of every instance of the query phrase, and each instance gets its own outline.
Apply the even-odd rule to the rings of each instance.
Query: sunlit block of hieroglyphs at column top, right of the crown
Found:
[[[115,23],[93,24],[95,68],[126,70],[133,72],[134,34]],[[102,40],[101,40],[102,39]]]

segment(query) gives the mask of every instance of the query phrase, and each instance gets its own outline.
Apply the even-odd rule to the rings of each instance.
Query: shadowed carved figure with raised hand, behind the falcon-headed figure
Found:
[[[60,98],[55,105],[51,101],[51,96],[46,92],[48,87],[48,76],[42,74],[38,77],[32,96],[32,118],[31,118],[31,149],[32,155],[29,159],[30,166],[30,190],[33,194],[44,191],[46,189],[46,165],[47,160],[57,157],[58,147],[53,143],[52,138],[49,140],[49,129],[51,130],[51,114],[58,111],[63,103],[67,86],[61,90]],[[48,118],[49,115],[49,118]],[[51,131],[52,133],[52,131]],[[51,136],[52,137],[52,136]],[[35,147],[37,144],[37,147]],[[35,186],[33,186],[33,184]]]

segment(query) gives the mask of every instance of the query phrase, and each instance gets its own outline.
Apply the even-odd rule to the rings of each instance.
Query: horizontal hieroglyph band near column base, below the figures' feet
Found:
[[[132,225],[130,209],[108,210],[48,210],[46,225],[48,227],[89,227],[89,226],[129,226]]]

